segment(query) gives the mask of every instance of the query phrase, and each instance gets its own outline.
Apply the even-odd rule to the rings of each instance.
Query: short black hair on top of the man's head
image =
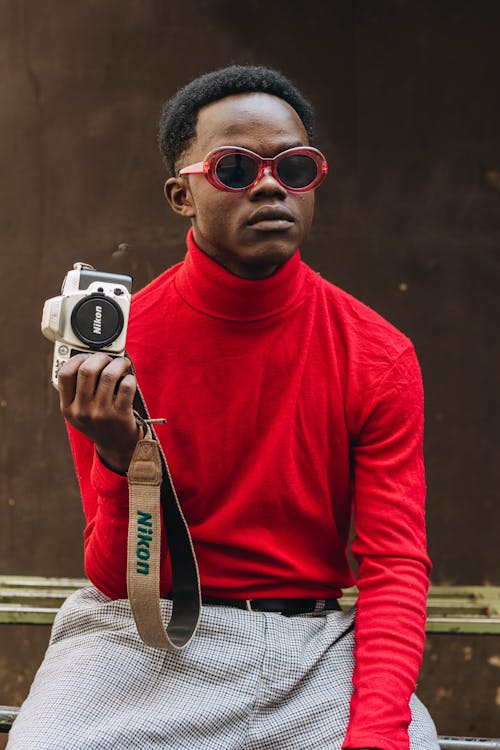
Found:
[[[314,110],[288,78],[260,65],[231,65],[195,78],[165,103],[158,143],[171,173],[175,174],[177,160],[196,135],[200,109],[226,96],[258,92],[277,96],[293,107],[312,144]]]

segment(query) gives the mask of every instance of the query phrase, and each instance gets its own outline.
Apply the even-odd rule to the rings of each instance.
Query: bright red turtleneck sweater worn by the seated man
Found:
[[[344,746],[408,747],[424,639],[422,389],[410,341],[299,252],[240,279],[188,235],[185,261],[132,301],[127,348],[181,499],[202,589],[338,596],[351,508],[356,668]],[[127,596],[127,480],[70,429],[85,567]],[[169,591],[163,541],[162,593]]]

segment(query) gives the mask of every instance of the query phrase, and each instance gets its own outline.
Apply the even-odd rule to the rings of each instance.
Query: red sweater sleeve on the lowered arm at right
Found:
[[[344,748],[409,747],[430,572],[422,443],[422,383],[410,346],[369,399],[352,451],[359,597]]]

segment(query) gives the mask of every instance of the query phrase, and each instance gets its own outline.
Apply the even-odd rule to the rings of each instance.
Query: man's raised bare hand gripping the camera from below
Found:
[[[132,410],[137,381],[128,359],[76,354],[61,367],[58,387],[65,419],[95,443],[106,464],[126,472],[141,437]]]

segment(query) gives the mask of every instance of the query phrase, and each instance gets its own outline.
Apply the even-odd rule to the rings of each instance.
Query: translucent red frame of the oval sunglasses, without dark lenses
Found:
[[[245,187],[240,188],[232,188],[228,185],[225,185],[219,180],[217,176],[217,167],[220,160],[224,156],[228,156],[229,154],[243,154],[245,156],[249,156],[251,159],[257,162],[259,167],[257,177],[249,185],[245,185]],[[296,154],[309,156],[315,162],[317,167],[317,173],[314,180],[309,183],[309,185],[301,188],[292,188],[288,185],[285,185],[278,174],[278,166],[280,162],[287,156],[294,156]],[[272,159],[265,159],[259,154],[256,154],[255,151],[250,151],[250,149],[242,148],[241,146],[219,146],[218,148],[214,148],[212,151],[210,151],[203,161],[199,161],[196,164],[190,164],[187,167],[183,167],[183,169],[181,169],[179,172],[179,176],[185,174],[204,174],[209,183],[213,185],[213,187],[217,188],[217,190],[224,190],[227,193],[241,193],[245,190],[250,190],[254,187],[254,185],[260,182],[264,175],[272,174],[274,179],[277,180],[279,184],[282,185],[288,192],[307,193],[310,190],[315,190],[321,185],[326,175],[328,174],[328,163],[321,151],[319,151],[317,148],[313,148],[312,146],[297,146],[294,148],[288,148],[286,149],[286,151],[282,151]]]

